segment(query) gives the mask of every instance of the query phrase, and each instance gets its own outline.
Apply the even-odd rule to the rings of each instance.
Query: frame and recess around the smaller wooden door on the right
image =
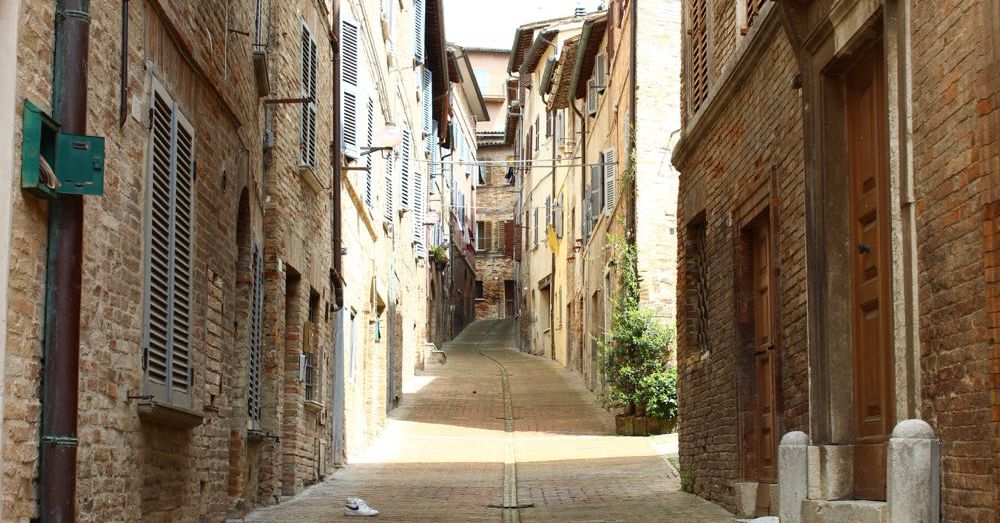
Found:
[[[769,226],[770,242],[769,250],[771,257],[771,269],[769,278],[771,280],[771,310],[772,310],[772,326],[771,332],[774,338],[774,354],[775,354],[775,364],[774,371],[771,379],[773,380],[772,387],[774,390],[774,404],[772,408],[774,410],[774,431],[775,431],[775,455],[777,455],[777,442],[781,438],[781,434],[784,433],[784,421],[781,415],[783,411],[783,402],[781,394],[781,374],[782,374],[782,329],[781,322],[777,320],[777,311],[780,310],[781,304],[781,290],[778,284],[778,274],[779,274],[779,258],[778,258],[778,202],[775,197],[778,194],[777,191],[777,171],[772,168],[769,174],[758,173],[755,178],[745,183],[740,191],[742,194],[747,194],[747,196],[736,206],[733,215],[733,259],[736,270],[733,273],[733,296],[735,297],[734,304],[734,314],[735,318],[733,325],[735,328],[734,339],[737,340],[736,343],[736,390],[737,390],[737,411],[738,411],[738,421],[737,421],[737,438],[739,441],[739,455],[740,455],[740,475],[742,478],[750,481],[758,481],[760,479],[759,472],[759,462],[755,461],[758,458],[759,453],[754,449],[749,448],[747,438],[752,437],[756,433],[756,362],[752,357],[752,354],[746,353],[744,350],[747,343],[753,343],[754,333],[747,332],[747,325],[753,326],[754,320],[748,317],[752,316],[752,307],[747,308],[745,305],[749,302],[752,303],[750,299],[750,292],[752,289],[748,288],[746,275],[747,273],[752,274],[752,261],[748,261],[747,256],[750,254],[748,251],[746,243],[746,235],[749,229],[752,229],[754,222],[766,219]],[[748,263],[751,266],[748,267]],[[749,339],[748,339],[749,338]],[[749,356],[749,357],[748,357]],[[754,418],[753,424],[747,422],[744,418],[746,413],[751,413]],[[774,480],[777,480],[775,476]]]

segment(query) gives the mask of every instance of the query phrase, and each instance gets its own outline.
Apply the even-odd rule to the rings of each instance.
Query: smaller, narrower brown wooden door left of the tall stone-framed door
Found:
[[[767,213],[751,226],[753,258],[754,310],[754,383],[757,404],[755,410],[755,444],[757,447],[757,480],[774,483],[777,470],[777,427],[775,421],[776,354],[774,347],[774,309],[772,295],[771,230]]]

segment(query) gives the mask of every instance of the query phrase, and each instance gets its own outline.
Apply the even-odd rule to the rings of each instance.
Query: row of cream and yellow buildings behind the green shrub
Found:
[[[526,93],[515,149],[529,162],[528,212],[518,215],[522,323],[534,353],[581,372],[594,390],[596,340],[611,327],[613,238],[636,244],[643,305],[674,318],[664,267],[676,263],[677,174],[663,139],[680,126],[679,27],[679,2],[611,2],[515,36],[511,61]]]

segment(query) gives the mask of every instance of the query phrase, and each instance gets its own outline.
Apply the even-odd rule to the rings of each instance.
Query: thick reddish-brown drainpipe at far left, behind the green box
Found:
[[[61,131],[87,132],[90,0],[57,0],[52,108]],[[76,429],[80,376],[83,197],[49,203],[45,282],[39,517],[76,521]]]

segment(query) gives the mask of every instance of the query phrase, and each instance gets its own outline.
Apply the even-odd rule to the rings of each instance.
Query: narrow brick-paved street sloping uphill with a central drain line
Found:
[[[555,362],[513,350],[512,321],[479,321],[446,346],[448,361],[418,376],[360,460],[296,499],[247,521],[347,518],[362,497],[388,521],[731,521],[680,492],[650,438],[611,435],[613,417]],[[516,500],[505,486],[509,376]],[[416,389],[416,387],[414,387]],[[507,472],[505,473],[505,469]],[[500,507],[519,506],[520,510]]]

